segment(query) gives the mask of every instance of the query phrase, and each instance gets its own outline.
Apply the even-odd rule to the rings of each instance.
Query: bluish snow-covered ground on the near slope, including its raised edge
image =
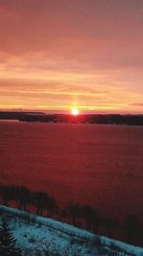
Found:
[[[143,256],[143,248],[97,236],[70,224],[0,205],[24,256]]]

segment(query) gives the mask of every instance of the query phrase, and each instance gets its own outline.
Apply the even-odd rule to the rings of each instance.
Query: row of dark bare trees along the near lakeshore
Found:
[[[0,185],[0,201],[4,205],[15,206],[20,210],[72,223],[99,235],[143,245],[143,222],[140,223],[133,214],[121,223],[115,218],[103,216],[90,205],[69,203],[63,206],[43,191],[33,192],[24,186],[14,185]],[[119,236],[120,233],[123,235]]]

